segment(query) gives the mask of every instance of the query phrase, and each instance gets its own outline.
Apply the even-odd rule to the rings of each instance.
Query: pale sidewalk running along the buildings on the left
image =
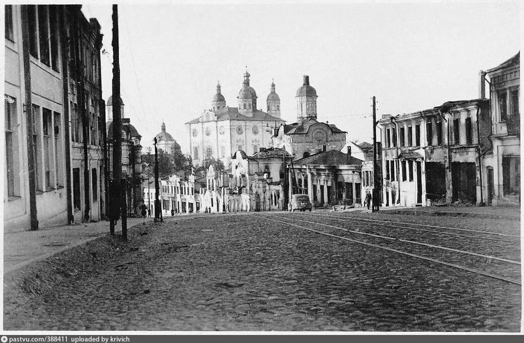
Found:
[[[128,218],[127,228],[150,222],[152,218]],[[115,233],[122,232],[118,221]],[[109,222],[82,223],[41,228],[38,231],[4,233],[4,275],[61,251],[86,244],[109,233]]]

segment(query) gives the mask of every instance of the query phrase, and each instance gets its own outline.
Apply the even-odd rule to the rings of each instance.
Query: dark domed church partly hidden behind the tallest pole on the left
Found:
[[[122,177],[125,179],[127,213],[139,215],[141,205],[144,204],[142,191],[142,136],[131,124],[129,118],[124,118],[124,101],[118,99],[116,102],[121,108],[122,116]],[[110,96],[107,99],[107,146],[109,177],[113,178],[113,106],[115,101]]]

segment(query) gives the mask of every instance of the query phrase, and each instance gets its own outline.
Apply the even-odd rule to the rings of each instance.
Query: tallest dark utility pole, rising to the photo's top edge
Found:
[[[122,191],[122,115],[120,104],[120,59],[118,48],[118,6],[113,5],[113,203],[111,225],[118,219],[118,213],[125,211],[122,206],[126,192]],[[123,214],[123,213],[122,213]],[[127,239],[127,222],[122,215],[122,237]]]

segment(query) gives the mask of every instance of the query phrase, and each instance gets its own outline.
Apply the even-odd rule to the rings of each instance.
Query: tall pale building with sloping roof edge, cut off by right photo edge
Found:
[[[483,156],[487,204],[520,203],[520,52],[504,63],[481,72],[490,78],[493,148]],[[483,93],[481,90],[481,93]]]

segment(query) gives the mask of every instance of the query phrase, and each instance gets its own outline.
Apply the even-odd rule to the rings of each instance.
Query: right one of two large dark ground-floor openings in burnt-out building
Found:
[[[476,203],[475,163],[453,162],[451,164],[451,185],[453,187],[452,202]]]

